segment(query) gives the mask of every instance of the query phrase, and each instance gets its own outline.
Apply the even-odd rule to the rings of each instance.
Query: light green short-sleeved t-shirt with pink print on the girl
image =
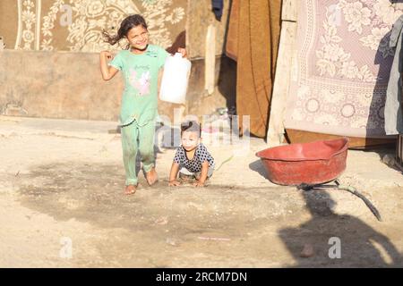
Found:
[[[109,63],[124,75],[121,125],[135,120],[141,126],[157,117],[159,69],[167,55],[162,47],[149,45],[141,55],[129,50],[120,51]]]

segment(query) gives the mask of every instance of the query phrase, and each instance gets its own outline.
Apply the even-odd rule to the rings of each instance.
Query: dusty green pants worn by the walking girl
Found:
[[[136,121],[133,121],[129,125],[122,126],[121,134],[126,186],[137,185],[137,151],[140,151],[144,172],[150,172],[155,165],[155,121],[150,121],[141,126]]]

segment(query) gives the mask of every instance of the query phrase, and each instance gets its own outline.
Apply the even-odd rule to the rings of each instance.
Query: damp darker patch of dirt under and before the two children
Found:
[[[182,234],[218,231],[238,235],[262,220],[270,223],[265,201],[256,204],[267,189],[255,189],[257,192],[245,196],[247,189],[235,191],[234,186],[195,189],[188,184],[175,188],[160,180],[149,187],[140,172],[137,193],[124,196],[123,172],[120,164],[38,165],[20,175],[21,202],[56,220],[74,218],[136,231],[168,221],[171,231]]]

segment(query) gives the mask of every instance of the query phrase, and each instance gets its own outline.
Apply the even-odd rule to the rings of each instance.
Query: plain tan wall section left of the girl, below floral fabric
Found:
[[[117,119],[122,80],[101,79],[98,55],[4,50],[0,63],[2,114]]]

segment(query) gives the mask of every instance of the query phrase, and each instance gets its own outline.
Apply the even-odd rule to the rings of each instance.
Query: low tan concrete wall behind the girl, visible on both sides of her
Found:
[[[210,114],[227,103],[234,105],[235,71],[235,63],[219,57],[216,92],[205,97],[204,61],[194,60],[187,112]],[[115,121],[123,88],[119,75],[101,79],[95,53],[0,51],[0,112],[4,115]],[[159,114],[172,121],[177,107],[160,102]]]

